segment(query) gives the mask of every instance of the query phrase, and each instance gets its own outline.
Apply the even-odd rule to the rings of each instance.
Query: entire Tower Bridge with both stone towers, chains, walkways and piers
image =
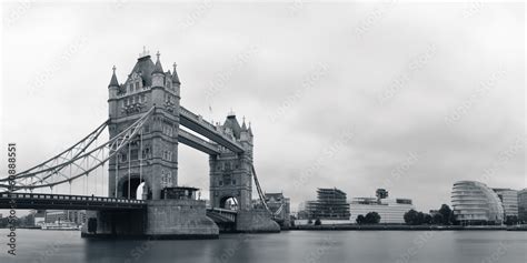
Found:
[[[280,231],[275,222],[278,213],[266,204],[253,166],[250,124],[245,120],[240,124],[233,113],[223,124],[212,124],[181,107],[176,64],[165,71],[159,52],[156,63],[149,53],[141,53],[123,83],[113,67],[108,91],[109,119],[95,131],[16,174],[13,185],[10,179],[0,179],[0,190],[4,190],[0,209],[7,209],[10,200],[21,209],[84,209],[86,237],[195,239],[217,237],[220,230]],[[106,128],[110,139],[99,143]],[[209,155],[209,209],[196,199],[196,189],[178,186],[179,143]],[[69,185],[71,191],[73,182],[101,169],[108,171],[109,196],[52,193],[59,185]],[[252,182],[259,205],[251,199]],[[139,186],[142,196],[136,196]],[[37,193],[46,189],[51,193]],[[229,210],[229,200],[235,200],[236,211]]]

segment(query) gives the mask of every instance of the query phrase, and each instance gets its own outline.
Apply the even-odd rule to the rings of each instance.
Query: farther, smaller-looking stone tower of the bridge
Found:
[[[239,124],[233,112],[227,115],[220,127],[225,134],[239,141],[245,152],[221,151],[210,155],[210,204],[212,208],[227,209],[227,201],[233,200],[238,210],[251,209],[252,193],[252,131],[245,120]]]

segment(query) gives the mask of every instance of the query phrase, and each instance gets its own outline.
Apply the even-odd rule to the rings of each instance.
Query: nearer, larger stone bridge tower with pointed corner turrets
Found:
[[[137,198],[145,182],[142,199],[159,200],[161,190],[178,182],[178,130],[180,81],[162,70],[143,50],[125,83],[119,84],[116,68],[108,85],[109,131],[113,138],[152,107],[155,113],[140,136],[109,161],[109,196]],[[117,176],[116,176],[117,175]]]

